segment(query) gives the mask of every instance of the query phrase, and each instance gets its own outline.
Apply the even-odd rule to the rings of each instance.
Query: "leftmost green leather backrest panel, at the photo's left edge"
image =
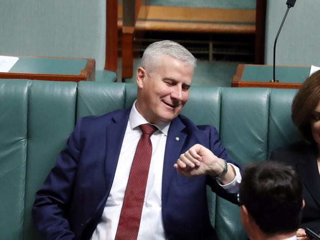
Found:
[[[22,238],[29,82],[0,81],[0,238]]]

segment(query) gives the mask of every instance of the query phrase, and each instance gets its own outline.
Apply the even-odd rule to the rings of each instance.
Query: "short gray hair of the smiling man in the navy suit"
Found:
[[[160,56],[168,55],[174,59],[181,60],[187,65],[195,67],[196,58],[182,45],[171,40],[163,40],[150,44],[143,53],[140,66],[149,68],[154,66]]]

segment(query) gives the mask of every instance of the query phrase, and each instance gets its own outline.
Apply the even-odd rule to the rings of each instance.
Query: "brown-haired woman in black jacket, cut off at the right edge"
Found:
[[[298,239],[304,238],[304,228],[320,233],[320,70],[302,84],[295,95],[291,118],[303,141],[274,150],[271,159],[293,165],[300,175],[304,189]]]

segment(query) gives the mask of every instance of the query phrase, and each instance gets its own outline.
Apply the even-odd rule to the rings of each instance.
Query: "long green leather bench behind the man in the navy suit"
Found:
[[[266,160],[277,147],[299,140],[290,119],[296,90],[192,87],[182,111],[220,132],[240,164]],[[77,119],[132,105],[136,85],[105,82],[0,80],[0,239],[37,240],[34,194],[54,166]],[[245,240],[239,210],[208,192],[221,240]]]

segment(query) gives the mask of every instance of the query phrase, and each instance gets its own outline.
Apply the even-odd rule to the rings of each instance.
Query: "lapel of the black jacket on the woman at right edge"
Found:
[[[303,161],[297,163],[298,172],[304,180],[306,189],[320,206],[320,178],[314,150],[308,150],[308,154],[301,160]]]

